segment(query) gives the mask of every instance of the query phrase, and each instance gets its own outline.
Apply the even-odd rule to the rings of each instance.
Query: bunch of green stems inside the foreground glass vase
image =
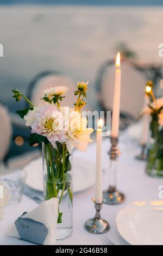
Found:
[[[67,191],[72,203],[72,191],[70,181],[67,180],[66,173],[70,170],[69,152],[63,143],[57,144],[57,148],[53,149],[51,143],[45,143],[44,154],[47,167],[46,195],[48,200],[52,197],[59,198],[59,205],[64,198],[64,192]],[[68,157],[68,158],[67,158]],[[68,162],[67,162],[68,161]],[[70,175],[70,174],[68,174]],[[59,207],[60,208],[60,207]],[[58,209],[58,223],[62,223],[62,212]]]

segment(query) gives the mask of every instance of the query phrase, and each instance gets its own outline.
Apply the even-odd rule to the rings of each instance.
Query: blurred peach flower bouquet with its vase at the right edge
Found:
[[[163,97],[156,99],[153,83],[147,84],[151,101],[143,109],[144,114],[151,115],[151,140],[149,142],[146,172],[151,176],[163,176]]]

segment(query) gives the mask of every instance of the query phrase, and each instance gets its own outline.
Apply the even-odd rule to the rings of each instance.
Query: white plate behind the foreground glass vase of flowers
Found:
[[[42,158],[33,160],[24,167],[27,173],[26,184],[34,190],[43,191]],[[73,192],[83,191],[95,184],[95,164],[74,157]]]

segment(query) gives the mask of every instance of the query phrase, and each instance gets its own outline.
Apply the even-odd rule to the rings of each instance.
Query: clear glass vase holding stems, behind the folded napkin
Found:
[[[59,198],[57,239],[65,239],[73,225],[72,154],[65,143],[42,143],[42,156],[44,200]]]

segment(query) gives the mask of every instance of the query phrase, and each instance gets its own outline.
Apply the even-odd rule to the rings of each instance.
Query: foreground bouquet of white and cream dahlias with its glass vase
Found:
[[[59,198],[58,238],[62,239],[72,231],[72,150],[77,147],[85,151],[91,142],[93,129],[87,128],[87,119],[81,110],[86,104],[88,82],[78,82],[77,102],[74,108],[60,106],[68,90],[65,86],[43,90],[42,103],[34,106],[18,89],[12,90],[16,101],[21,96],[30,107],[17,111],[26,125],[31,127],[30,145],[42,143],[44,199]]]

